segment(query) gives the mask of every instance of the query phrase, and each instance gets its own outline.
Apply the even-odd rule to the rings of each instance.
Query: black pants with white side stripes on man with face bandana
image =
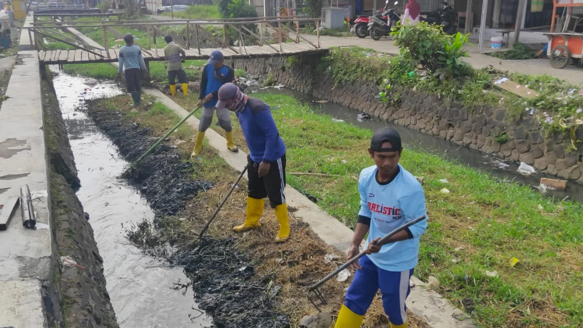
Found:
[[[264,177],[259,177],[259,163],[255,163],[249,156],[247,156],[247,162],[249,197],[255,199],[268,197],[271,208],[285,204],[286,197],[283,190],[286,187],[286,155],[272,162],[269,173]]]

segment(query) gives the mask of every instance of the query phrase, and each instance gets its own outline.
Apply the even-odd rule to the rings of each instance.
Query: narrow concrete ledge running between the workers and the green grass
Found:
[[[160,90],[144,89],[144,91],[149,95],[156,96],[161,103],[173,110],[178,116],[187,116],[187,110],[164,95],[164,93],[161,93]],[[196,129],[198,128],[199,120],[191,116],[186,123]],[[242,151],[238,153],[229,152],[227,149],[227,141],[222,135],[209,129],[206,130],[205,138],[208,140],[210,146],[217,149],[219,155],[226,160],[231,168],[240,171],[247,165],[247,154]],[[310,224],[312,230],[324,242],[328,243],[328,245],[332,245],[342,252],[347,252],[350,241],[352,240],[352,230],[323,211],[318,205],[312,203],[307,197],[292,187],[287,186],[285,193],[287,204],[298,209],[296,212],[293,212],[292,215],[294,217],[300,218]],[[416,277],[413,277],[412,280],[415,282],[416,287],[411,289],[411,293],[407,299],[407,306],[413,310],[413,313],[430,324],[431,327],[474,327],[472,320],[461,310],[452,306],[447,299],[444,299],[437,292],[427,289],[424,283]]]

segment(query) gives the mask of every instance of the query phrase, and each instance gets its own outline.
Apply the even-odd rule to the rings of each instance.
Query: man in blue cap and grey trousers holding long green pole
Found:
[[[219,88],[225,83],[235,80],[235,71],[233,68],[224,64],[223,53],[215,50],[210,53],[208,64],[202,69],[201,89],[198,93],[198,106],[202,107],[201,122],[198,124],[198,134],[194,149],[192,149],[191,158],[195,159],[202,149],[202,139],[205,137],[206,129],[210,127],[213,121],[213,113],[217,113],[219,125],[224,129],[225,138],[227,139],[227,149],[231,152],[238,152],[239,149],[233,142],[233,128],[231,127],[231,115],[229,110],[217,108],[216,103],[219,101]]]

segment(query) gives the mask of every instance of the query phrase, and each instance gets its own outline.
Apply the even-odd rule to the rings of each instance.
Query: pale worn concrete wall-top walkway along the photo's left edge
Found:
[[[29,43],[28,33],[23,39]],[[21,50],[18,57],[22,62],[12,71],[0,110],[0,204],[28,184],[37,229],[24,228],[17,208],[0,231],[0,327],[44,327],[43,286],[52,278],[52,253],[43,103],[37,51]]]

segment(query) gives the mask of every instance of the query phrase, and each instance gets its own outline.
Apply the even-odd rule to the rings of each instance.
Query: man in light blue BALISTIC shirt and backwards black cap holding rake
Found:
[[[368,153],[375,165],[360,173],[360,212],[348,259],[359,254],[360,243],[368,232],[367,255],[353,264],[356,274],[335,328],[360,327],[378,289],[391,328],[408,326],[405,300],[427,220],[396,233],[382,247],[374,245],[406,222],[427,215],[421,184],[399,165],[402,151],[397,131],[385,127],[374,132]]]

